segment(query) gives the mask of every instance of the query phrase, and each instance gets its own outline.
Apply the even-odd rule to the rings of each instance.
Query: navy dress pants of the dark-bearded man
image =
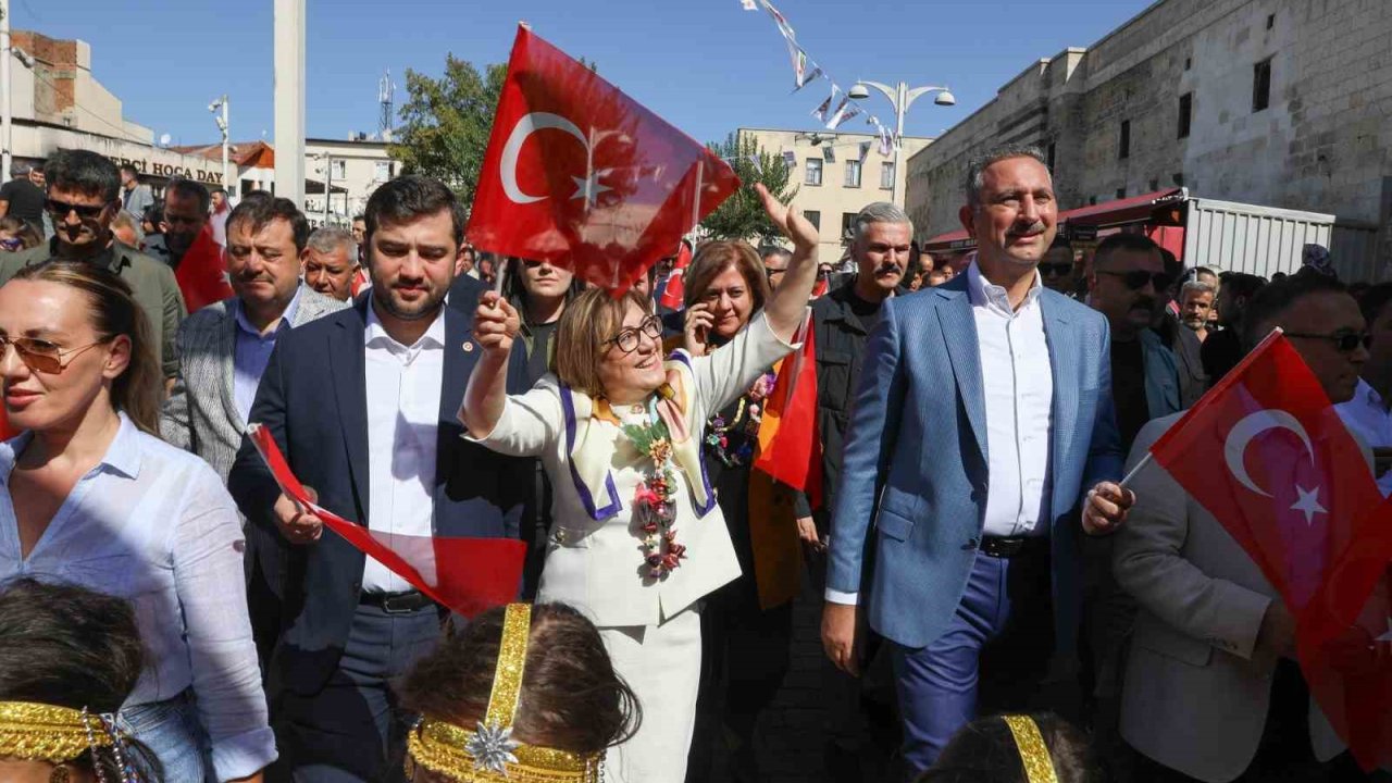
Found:
[[[404,780],[409,716],[390,683],[426,655],[440,637],[440,612],[388,613],[359,605],[338,660],[319,692],[292,690],[271,706],[280,761],[267,780],[379,783]]]

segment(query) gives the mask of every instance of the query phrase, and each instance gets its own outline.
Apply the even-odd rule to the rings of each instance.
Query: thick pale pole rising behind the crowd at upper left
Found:
[[[276,0],[276,195],[305,206],[305,0]]]

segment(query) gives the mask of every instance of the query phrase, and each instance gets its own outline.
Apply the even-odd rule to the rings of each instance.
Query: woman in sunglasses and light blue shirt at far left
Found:
[[[129,599],[149,653],[120,726],[168,780],[259,780],[276,743],[241,522],[213,468],[155,435],[149,334],[125,281],[89,263],[50,261],[0,286],[0,383],[25,431],[0,443],[0,580]]]

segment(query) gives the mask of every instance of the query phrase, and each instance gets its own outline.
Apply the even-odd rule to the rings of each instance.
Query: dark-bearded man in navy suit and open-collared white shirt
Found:
[[[464,217],[441,183],[401,177],[367,201],[373,287],[280,339],[249,421],[317,503],[373,531],[516,536],[521,463],[465,442],[472,308],[444,307]],[[249,442],[228,488],[251,522],[281,628],[267,665],[274,780],[400,780],[405,726],[388,681],[427,652],[441,610],[281,495]],[[255,531],[255,532],[252,532]],[[445,567],[445,564],[441,564]],[[469,563],[448,567],[468,568]]]

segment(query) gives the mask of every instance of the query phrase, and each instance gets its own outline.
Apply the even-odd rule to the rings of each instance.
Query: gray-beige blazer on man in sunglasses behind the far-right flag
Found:
[[[1179,417],[1147,424],[1129,463],[1139,463]],[[1122,737],[1190,777],[1233,780],[1256,757],[1267,723],[1276,659],[1256,642],[1276,591],[1158,463],[1130,489],[1136,506],[1116,532],[1112,560],[1116,581],[1140,603],[1122,687]],[[1314,702],[1310,741],[1321,761],[1345,747]]]

